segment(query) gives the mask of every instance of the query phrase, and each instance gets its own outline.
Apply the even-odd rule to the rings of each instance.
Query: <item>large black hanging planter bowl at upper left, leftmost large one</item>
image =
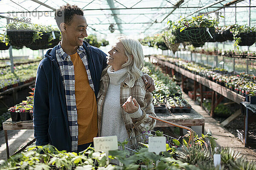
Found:
[[[33,30],[7,30],[11,45],[29,45],[33,42]]]

